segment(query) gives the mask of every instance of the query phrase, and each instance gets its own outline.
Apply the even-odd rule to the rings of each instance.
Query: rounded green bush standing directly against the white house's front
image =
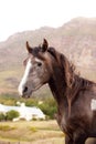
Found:
[[[19,115],[20,115],[19,112],[11,110],[7,112],[7,120],[12,121],[13,119],[19,117]]]

